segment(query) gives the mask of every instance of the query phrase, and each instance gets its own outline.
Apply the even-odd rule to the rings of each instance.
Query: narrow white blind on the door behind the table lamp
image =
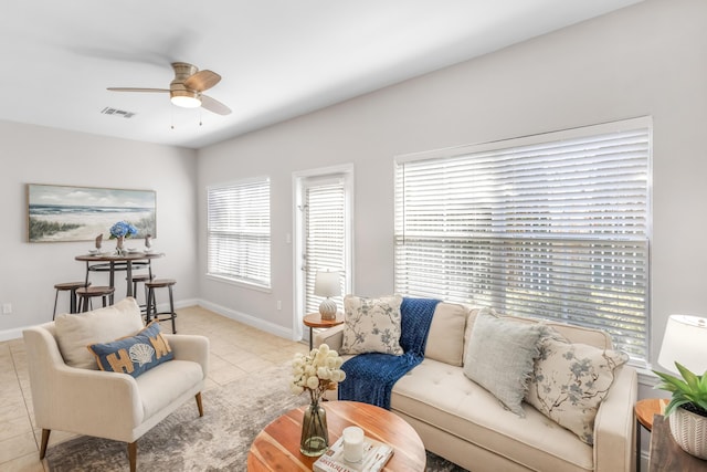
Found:
[[[346,189],[345,181],[327,179],[307,182],[304,192],[305,211],[305,284],[307,313],[319,311],[324,300],[314,294],[318,270],[340,271],[341,293],[346,286]],[[344,306],[344,297],[331,297]]]

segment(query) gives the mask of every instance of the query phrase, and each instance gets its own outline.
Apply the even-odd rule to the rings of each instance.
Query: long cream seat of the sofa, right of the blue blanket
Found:
[[[520,464],[508,470],[594,470],[592,448],[576,434],[531,407],[526,407],[525,418],[505,410],[461,367],[424,359],[393,387],[391,410],[412,418],[409,422],[416,430],[442,436],[445,443],[449,439],[441,431]],[[426,445],[425,437],[423,441]],[[460,464],[475,470],[473,463]]]

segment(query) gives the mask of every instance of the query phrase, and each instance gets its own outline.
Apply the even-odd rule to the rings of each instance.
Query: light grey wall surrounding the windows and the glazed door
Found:
[[[354,162],[355,290],[393,289],[393,157],[650,115],[654,122],[651,358],[669,313],[707,313],[707,2],[647,0],[484,57],[199,151],[205,186],[272,178],[272,293],[205,277],[214,308],[293,325],[292,172]],[[200,213],[199,227],[205,228]],[[201,231],[200,235],[205,232]],[[283,310],[276,310],[276,301]],[[643,396],[650,391],[643,392]],[[650,396],[655,396],[655,392]]]

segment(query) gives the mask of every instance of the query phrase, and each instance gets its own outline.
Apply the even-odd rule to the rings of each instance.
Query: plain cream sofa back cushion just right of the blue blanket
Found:
[[[424,357],[461,366],[464,360],[464,327],[468,308],[441,302],[434,310]]]

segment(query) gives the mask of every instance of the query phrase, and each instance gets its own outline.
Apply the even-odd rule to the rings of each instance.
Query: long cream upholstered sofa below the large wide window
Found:
[[[478,311],[437,305],[424,360],[392,389],[391,411],[415,429],[425,448],[474,472],[634,471],[635,369],[623,365],[614,371],[613,384],[594,420],[593,447],[589,445],[530,405],[523,403],[525,418],[514,415],[464,375],[462,364]],[[603,332],[558,323],[547,325],[571,343],[612,347]],[[326,343],[340,349],[344,329],[345,325],[339,325],[317,333],[315,345]]]

